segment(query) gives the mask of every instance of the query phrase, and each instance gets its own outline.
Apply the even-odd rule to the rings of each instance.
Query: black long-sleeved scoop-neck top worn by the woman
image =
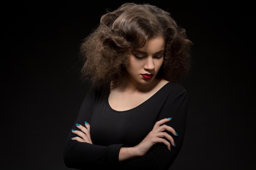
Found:
[[[152,97],[139,106],[126,111],[113,110],[108,96],[99,91],[88,91],[75,124],[90,124],[93,144],[72,141],[70,134],[65,145],[64,162],[68,168],[81,170],[168,170],[182,146],[186,125],[187,93],[179,84],[167,83]],[[155,144],[148,153],[137,159],[119,162],[121,147],[136,146],[153,129],[155,122],[173,119],[166,124],[175,129],[178,137],[172,135],[176,147]]]

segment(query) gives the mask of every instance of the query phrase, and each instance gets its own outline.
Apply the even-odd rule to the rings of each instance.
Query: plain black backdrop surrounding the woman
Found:
[[[67,134],[86,84],[81,40],[100,16],[132,1],[2,2],[2,170],[68,170]],[[182,84],[189,113],[171,170],[254,170],[255,27],[246,1],[144,0],[169,11],[193,41]]]

